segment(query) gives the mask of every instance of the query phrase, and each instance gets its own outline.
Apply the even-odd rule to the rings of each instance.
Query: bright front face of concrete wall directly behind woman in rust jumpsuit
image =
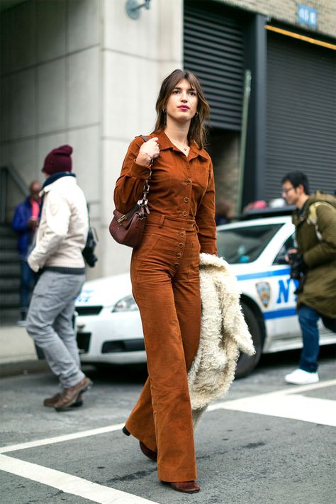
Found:
[[[130,140],[155,123],[162,79],[182,65],[182,0],[156,0],[134,20],[125,3],[103,2],[103,208],[101,247],[104,274],[125,271],[131,250],[106,233],[113,212],[113,188]],[[150,197],[150,196],[149,196]],[[103,230],[105,230],[103,232]]]

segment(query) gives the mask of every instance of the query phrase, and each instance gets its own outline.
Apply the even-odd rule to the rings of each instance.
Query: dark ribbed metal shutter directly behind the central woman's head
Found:
[[[221,13],[184,6],[184,68],[194,72],[216,128],[240,130],[244,79],[242,26]]]

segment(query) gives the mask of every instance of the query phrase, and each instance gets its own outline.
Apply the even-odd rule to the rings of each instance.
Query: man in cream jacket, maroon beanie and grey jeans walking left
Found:
[[[82,250],[89,218],[84,193],[71,173],[71,154],[72,147],[62,145],[45,158],[42,215],[35,248],[28,257],[30,268],[41,275],[26,329],[60,380],[61,392],[44,401],[57,411],[82,405],[82,393],[92,384],[80,369],[72,324],[74,302],[85,280]]]

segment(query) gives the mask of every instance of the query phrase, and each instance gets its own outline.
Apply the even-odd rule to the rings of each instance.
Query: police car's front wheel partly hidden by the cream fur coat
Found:
[[[242,303],[242,313],[244,313],[245,322],[249,328],[252,336],[255,354],[250,356],[247,354],[240,354],[237,361],[237,369],[235,371],[235,378],[242,378],[250,374],[255,366],[257,366],[260,357],[262,357],[262,331],[260,330],[257,317],[253,311],[245,303]]]

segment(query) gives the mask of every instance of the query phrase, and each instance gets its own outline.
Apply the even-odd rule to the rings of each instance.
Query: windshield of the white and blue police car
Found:
[[[218,256],[230,264],[255,261],[282,224],[218,230]]]

